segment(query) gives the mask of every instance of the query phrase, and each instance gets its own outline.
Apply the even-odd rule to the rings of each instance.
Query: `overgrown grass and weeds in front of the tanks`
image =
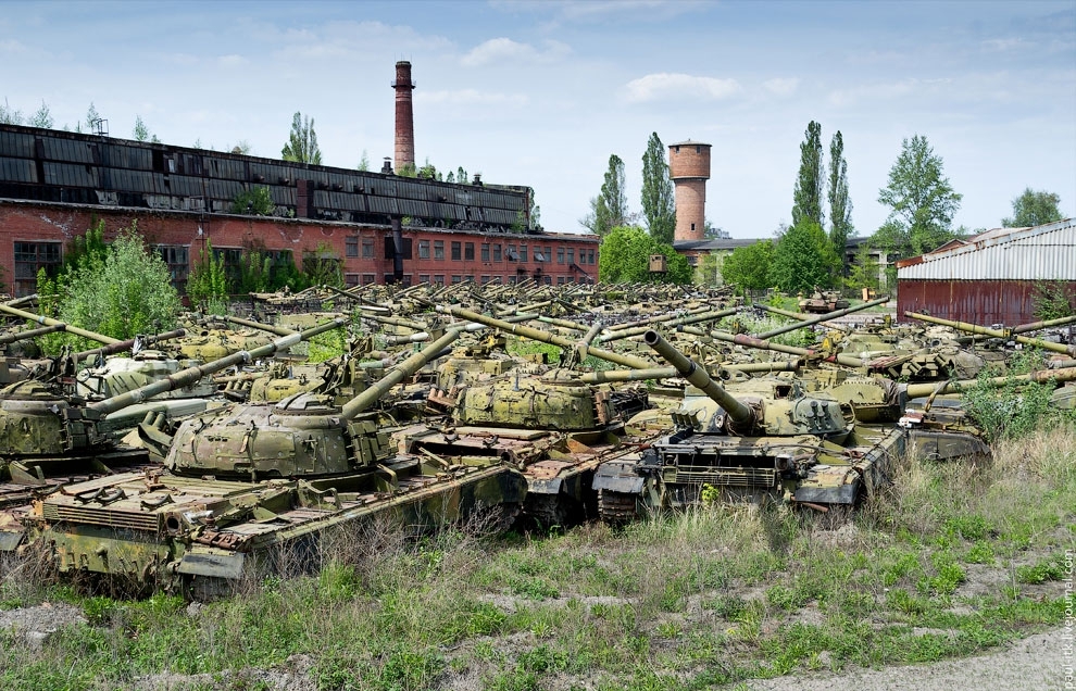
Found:
[[[188,608],[9,577],[4,608],[73,603],[40,649],[0,633],[0,687],[700,689],[963,656],[1056,626],[1076,529],[1076,430],[992,464],[905,462],[850,518],[716,505],[614,530],[351,536],[317,577]],[[262,670],[262,671],[258,671]],[[184,687],[177,687],[185,683]]]

